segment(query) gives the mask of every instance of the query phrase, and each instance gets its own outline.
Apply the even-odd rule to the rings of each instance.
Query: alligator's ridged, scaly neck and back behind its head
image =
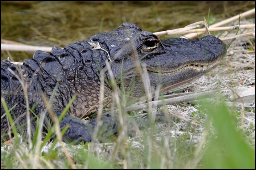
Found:
[[[77,97],[68,114],[82,118],[97,111],[100,81],[96,71],[98,66],[92,60],[92,55],[101,55],[97,51],[92,52],[86,45],[88,43],[84,41],[71,43],[64,49],[53,47],[50,54],[36,51],[33,59],[24,60],[23,65],[15,65],[8,60],[1,61],[1,97],[4,97],[8,108],[13,108],[12,117],[18,126],[26,124],[26,96],[28,108],[34,108],[34,114],[30,114],[32,129],[36,126],[34,115],[40,117],[40,113],[46,108],[42,95],[47,100],[54,96],[51,108],[57,115],[75,94]],[[111,100],[108,96],[110,95],[105,90],[104,104]],[[110,108],[110,105],[106,107]],[[5,110],[1,105],[1,116],[4,114]],[[26,132],[26,126],[23,127],[22,131]],[[1,135],[7,129],[7,117],[4,117],[1,119]]]

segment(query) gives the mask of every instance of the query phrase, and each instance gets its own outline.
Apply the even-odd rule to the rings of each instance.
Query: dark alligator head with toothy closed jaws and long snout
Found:
[[[226,45],[214,36],[160,40],[133,23],[123,23],[115,31],[96,34],[88,40],[108,49],[115,79],[121,77],[128,90],[133,88],[133,96],[145,93],[142,72],[147,73],[152,90],[161,86],[172,91],[210,71],[226,56]],[[139,71],[139,67],[146,72]]]

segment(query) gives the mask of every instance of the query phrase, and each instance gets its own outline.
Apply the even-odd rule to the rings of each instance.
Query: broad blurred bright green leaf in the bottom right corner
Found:
[[[245,141],[243,132],[235,127],[238,122],[232,116],[234,112],[230,113],[224,105],[218,109],[208,107],[207,110],[216,135],[203,156],[206,168],[255,169],[255,150]]]

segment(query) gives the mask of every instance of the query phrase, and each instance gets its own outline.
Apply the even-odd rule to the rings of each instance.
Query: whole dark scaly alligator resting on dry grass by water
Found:
[[[51,111],[59,117],[77,95],[59,126],[67,128],[63,135],[65,141],[90,142],[96,118],[88,123],[80,119],[95,114],[100,102],[105,110],[114,106],[111,79],[115,80],[116,87],[139,98],[146,93],[144,82],[147,80],[152,91],[160,87],[167,92],[169,87],[189,83],[214,69],[224,56],[226,45],[215,36],[160,40],[133,23],[123,23],[117,30],[92,35],[63,49],[55,46],[50,53],[36,51],[33,58],[25,59],[22,65],[1,61],[1,99],[12,108],[12,118],[24,134],[27,126],[21,125],[26,124],[27,101],[29,108],[33,108],[30,120],[34,134],[37,125],[34,117],[41,118],[45,112],[45,126],[52,124],[44,97],[51,101]],[[104,82],[103,86],[100,82]],[[112,114],[103,114],[102,120],[104,132],[118,133],[119,123]],[[1,103],[2,139],[7,137],[9,128]]]

